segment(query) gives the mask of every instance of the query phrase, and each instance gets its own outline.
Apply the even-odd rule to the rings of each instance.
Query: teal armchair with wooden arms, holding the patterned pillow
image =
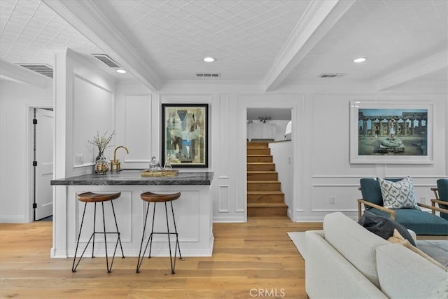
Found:
[[[401,179],[387,179],[387,181],[398,182]],[[413,188],[413,186],[412,186]],[[358,199],[358,217],[362,214],[362,204],[365,209],[377,214],[392,218],[409,230],[413,230],[418,239],[448,239],[448,220],[435,215],[435,211],[448,213],[448,209],[434,207],[433,205],[415,202],[414,208],[391,209],[384,207],[383,196],[379,179],[360,179],[360,191],[363,198]],[[439,191],[440,192],[440,191]],[[438,203],[438,202],[437,202]],[[423,207],[431,209],[433,213],[419,209]]]

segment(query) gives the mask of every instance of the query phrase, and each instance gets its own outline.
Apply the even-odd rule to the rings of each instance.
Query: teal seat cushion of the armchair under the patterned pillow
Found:
[[[386,216],[388,213],[379,209],[369,209],[375,215]],[[416,235],[448,235],[448,220],[419,209],[396,209],[395,221]]]

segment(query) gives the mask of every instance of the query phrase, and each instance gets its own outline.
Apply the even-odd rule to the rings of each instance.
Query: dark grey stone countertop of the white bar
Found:
[[[213,172],[179,172],[176,176],[141,177],[141,170],[83,174],[51,181],[51,185],[210,185]]]

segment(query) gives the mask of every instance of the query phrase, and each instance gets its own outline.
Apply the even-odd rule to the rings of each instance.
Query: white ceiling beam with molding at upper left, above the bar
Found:
[[[132,36],[130,30],[112,11],[107,1],[43,2],[150,90],[157,91],[160,88],[162,78],[155,74],[151,64],[139,54],[137,49],[141,46],[137,39],[129,38]]]

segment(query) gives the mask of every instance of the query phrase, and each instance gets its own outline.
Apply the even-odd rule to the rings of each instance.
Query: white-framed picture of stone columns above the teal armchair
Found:
[[[351,101],[350,162],[432,164],[433,104]]]

